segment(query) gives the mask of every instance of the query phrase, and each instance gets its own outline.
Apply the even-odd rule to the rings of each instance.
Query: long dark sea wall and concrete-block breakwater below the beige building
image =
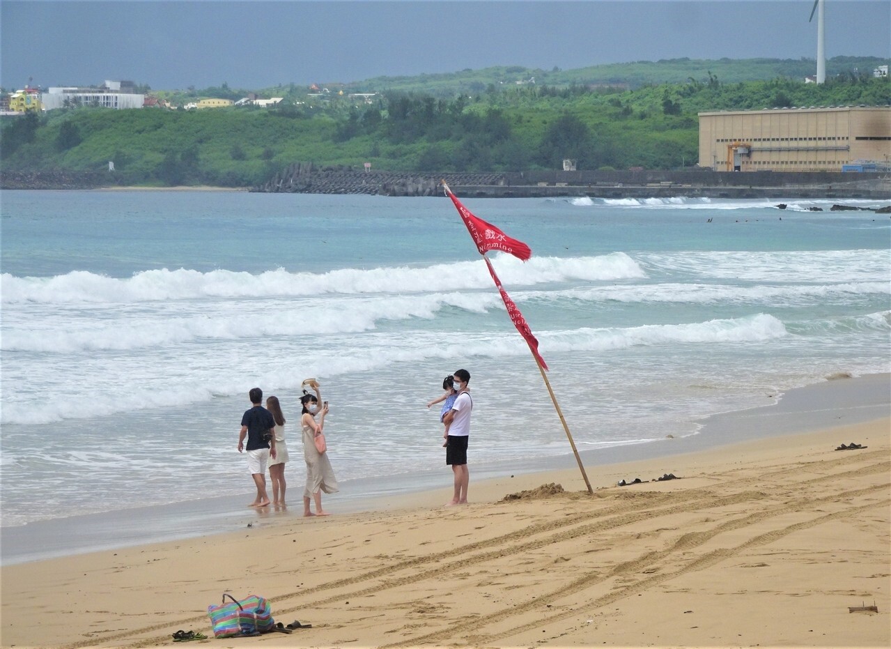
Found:
[[[461,196],[528,198],[591,196],[598,198],[771,198],[891,201],[887,174],[842,172],[683,171],[523,171],[490,174],[398,173],[296,163],[254,192],[370,193],[384,196],[433,196],[445,180]]]

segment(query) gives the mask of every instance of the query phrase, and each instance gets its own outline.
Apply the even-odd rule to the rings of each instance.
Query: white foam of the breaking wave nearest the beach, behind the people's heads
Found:
[[[606,351],[666,344],[711,345],[767,341],[787,335],[780,320],[766,315],[716,319],[683,325],[645,325],[628,328],[578,328],[571,331],[536,331],[541,351]],[[355,339],[342,337],[337,349],[315,348],[306,341],[279,341],[274,345],[282,358],[299,357],[301,350],[314,349],[303,361],[301,374],[327,378],[342,374],[380,371],[397,364],[417,365],[455,357],[505,358],[528,353],[522,339],[510,330],[495,333],[464,334],[443,340],[431,333],[371,333]],[[205,344],[200,367],[180,367],[171,357],[149,350],[130,357],[103,356],[80,362],[77,374],[60,373],[53,361],[29,367],[30,378],[47,388],[41,407],[28,400],[4,405],[4,423],[42,424],[63,419],[81,419],[141,409],[199,404],[220,396],[239,395],[244,391],[244,377],[233,374],[233,359],[223,348]],[[252,374],[253,382],[296,390],[301,376],[290,366],[271,365],[266,347],[240,350],[239,366],[264,368]],[[192,359],[192,364],[197,359]],[[55,376],[55,380],[51,376]],[[80,396],[82,385],[91,386],[91,398]]]

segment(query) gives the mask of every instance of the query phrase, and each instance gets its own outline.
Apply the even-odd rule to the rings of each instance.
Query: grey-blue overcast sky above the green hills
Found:
[[[7,89],[259,89],[493,65],[816,56],[813,0],[0,0]],[[826,0],[826,56],[891,56],[891,0]]]

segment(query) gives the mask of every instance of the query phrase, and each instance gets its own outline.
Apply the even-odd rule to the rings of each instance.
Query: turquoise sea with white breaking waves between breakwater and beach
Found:
[[[695,435],[782,390],[891,371],[887,215],[794,197],[464,203],[533,250],[491,259],[580,450]],[[307,377],[331,402],[342,489],[326,502],[358,478],[447,485],[425,404],[461,367],[471,471],[569,453],[446,198],[4,192],[0,211],[4,526],[247,503],[236,444],[255,386],[289,420],[296,505]]]

